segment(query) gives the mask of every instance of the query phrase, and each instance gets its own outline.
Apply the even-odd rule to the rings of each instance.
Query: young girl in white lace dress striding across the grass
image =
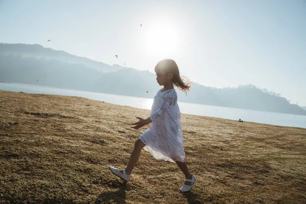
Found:
[[[173,85],[184,91],[189,91],[190,83],[184,83],[180,77],[180,71],[173,60],[162,60],[156,67],[157,83],[164,88],[160,89],[151,108],[150,116],[147,119],[139,119],[132,123],[132,128],[149,124],[149,129],[135,142],[135,147],[131,154],[129,164],[126,169],[119,170],[109,167],[111,172],[127,182],[131,178],[132,170],[139,159],[141,149],[149,151],[156,159],[176,162],[185,174],[186,180],[181,187],[182,192],[190,191],[192,185],[196,183],[194,176],[189,172],[185,163],[185,151],[183,148],[183,131],[181,124],[181,113],[177,105],[177,95]]]

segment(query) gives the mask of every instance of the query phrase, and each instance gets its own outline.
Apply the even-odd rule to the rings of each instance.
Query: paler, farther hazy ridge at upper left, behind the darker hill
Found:
[[[95,68],[103,72],[112,72],[123,69],[119,65],[110,66],[102,62],[90,60],[85,57],[78,57],[66,53],[62,50],[54,50],[52,48],[46,48],[39,44],[7,44],[0,43],[0,55],[21,55],[23,57],[43,58],[43,59],[54,59],[61,62],[67,62],[70,64],[83,64],[87,67]]]

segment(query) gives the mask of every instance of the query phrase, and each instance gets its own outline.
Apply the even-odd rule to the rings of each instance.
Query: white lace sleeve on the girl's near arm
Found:
[[[162,105],[159,109],[157,109],[154,113],[150,114],[151,121],[157,120],[169,106],[173,106],[176,103],[177,96],[175,91],[169,91],[165,93],[163,97]]]

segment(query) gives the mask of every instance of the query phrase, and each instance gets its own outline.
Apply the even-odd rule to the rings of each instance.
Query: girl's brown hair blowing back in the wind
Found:
[[[184,76],[180,76],[180,70],[174,60],[162,60],[155,66],[155,71],[164,70],[167,74],[173,73],[172,83],[174,86],[184,91],[187,95],[187,91],[192,86],[190,80]]]

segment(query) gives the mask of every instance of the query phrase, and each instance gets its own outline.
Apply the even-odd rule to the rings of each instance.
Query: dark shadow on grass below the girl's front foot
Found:
[[[119,189],[117,191],[110,191],[110,192],[101,193],[96,198],[95,204],[110,203],[111,200],[114,203],[125,203],[126,190],[127,190],[127,186],[122,185],[122,186],[119,187]]]

